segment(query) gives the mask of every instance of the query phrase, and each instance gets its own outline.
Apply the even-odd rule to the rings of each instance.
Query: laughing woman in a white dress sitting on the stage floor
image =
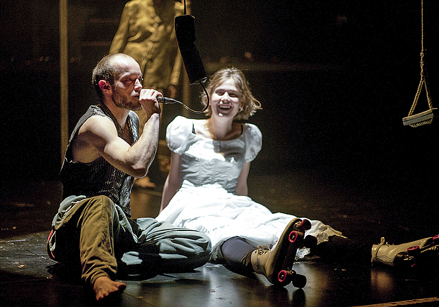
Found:
[[[212,241],[211,260],[225,260],[237,273],[254,271],[276,283],[296,217],[272,213],[248,197],[250,162],[261,149],[262,135],[255,125],[235,122],[248,119],[261,104],[239,69],[217,71],[207,93],[211,100],[208,119],[178,116],[167,127],[171,165],[156,219],[204,232]],[[202,102],[207,103],[205,94]],[[311,221],[306,234],[317,238],[313,254],[318,256],[342,256],[338,251],[343,248],[344,255],[370,259],[372,252],[372,258],[379,261],[385,253],[383,244],[348,240],[321,221]],[[296,258],[309,251],[298,250]],[[388,262],[392,265],[393,259]]]

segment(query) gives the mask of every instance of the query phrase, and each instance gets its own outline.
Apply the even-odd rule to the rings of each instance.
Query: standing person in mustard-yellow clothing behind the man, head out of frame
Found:
[[[182,13],[183,4],[176,0],[128,1],[109,51],[134,58],[143,73],[143,87],[158,90],[170,98],[176,97],[182,67],[174,28],[175,17]],[[146,113],[140,110],[137,115],[140,135]],[[134,184],[143,188],[155,187],[147,176],[137,179]]]

